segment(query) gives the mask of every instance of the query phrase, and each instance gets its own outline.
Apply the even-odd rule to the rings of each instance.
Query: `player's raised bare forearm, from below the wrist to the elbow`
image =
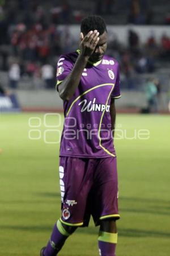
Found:
[[[69,101],[78,88],[82,73],[87,65],[88,57],[79,55],[70,75],[58,86],[59,97]]]

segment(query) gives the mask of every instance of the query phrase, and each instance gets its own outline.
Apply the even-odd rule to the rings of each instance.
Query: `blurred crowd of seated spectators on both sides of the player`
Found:
[[[43,28],[41,24],[36,24],[29,30],[24,24],[16,25],[11,31],[10,40],[10,51],[1,50],[3,55],[0,68],[8,71],[11,88],[16,88],[20,76],[25,75],[42,77],[46,88],[53,88],[58,56],[74,51],[78,43],[78,39],[75,42],[71,37],[69,29],[59,32],[54,25]],[[128,46],[118,42],[116,34],[113,34],[107,53],[118,59],[122,75],[128,79],[130,89],[133,88],[130,78],[135,73],[152,73],[162,66],[162,62],[169,63],[170,39],[163,34],[160,42],[156,42],[151,32],[143,45],[137,32],[129,30]]]

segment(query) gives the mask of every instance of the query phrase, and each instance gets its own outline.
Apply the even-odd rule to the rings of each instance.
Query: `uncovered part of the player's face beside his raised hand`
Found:
[[[95,48],[94,53],[92,53],[90,60],[92,62],[97,62],[101,60],[107,50],[107,32],[105,31],[102,35],[99,35],[99,42]]]

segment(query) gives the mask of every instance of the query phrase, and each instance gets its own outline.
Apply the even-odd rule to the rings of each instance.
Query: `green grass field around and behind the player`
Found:
[[[29,127],[30,117],[39,117],[40,127]],[[39,256],[60,217],[59,144],[52,143],[58,133],[45,127],[43,118],[36,113],[0,115],[0,256]],[[46,122],[56,125],[56,117]],[[39,122],[32,119],[31,124]],[[133,137],[134,130],[150,131],[147,140],[116,139],[121,214],[117,256],[168,256],[170,117],[121,114],[117,124],[123,130],[121,137]],[[31,131],[31,137],[41,138],[29,139],[31,129],[39,130]],[[51,143],[44,142],[44,134]],[[92,221],[88,228],[79,228],[59,255],[99,255],[97,232]]]

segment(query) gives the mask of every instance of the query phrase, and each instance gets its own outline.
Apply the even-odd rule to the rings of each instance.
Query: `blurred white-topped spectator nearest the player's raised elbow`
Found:
[[[45,81],[45,88],[54,88],[54,68],[50,64],[42,65],[41,77]]]

